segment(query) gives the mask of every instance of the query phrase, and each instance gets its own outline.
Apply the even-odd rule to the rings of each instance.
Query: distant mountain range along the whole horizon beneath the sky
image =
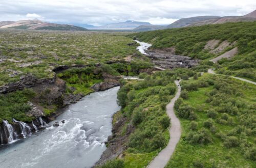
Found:
[[[0,21],[0,29],[28,29],[28,30],[59,30],[59,31],[87,31],[90,30],[127,30],[135,32],[154,31],[161,29],[173,29],[186,26],[200,26],[204,24],[221,24],[226,22],[255,21],[256,10],[244,16],[196,16],[179,19],[169,25],[153,25],[149,22],[127,20],[125,22],[112,23],[102,26],[76,23],[57,24],[33,20]]]

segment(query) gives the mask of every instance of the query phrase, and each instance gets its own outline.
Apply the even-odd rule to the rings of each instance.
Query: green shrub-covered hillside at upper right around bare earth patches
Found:
[[[234,75],[256,81],[256,22],[225,23],[184,27],[129,35],[152,44],[152,48],[175,47],[176,54],[209,60],[238,47],[238,53],[230,60],[222,59],[215,66],[218,73]],[[230,44],[221,52],[205,49],[209,40],[219,40],[214,46],[227,41]]]

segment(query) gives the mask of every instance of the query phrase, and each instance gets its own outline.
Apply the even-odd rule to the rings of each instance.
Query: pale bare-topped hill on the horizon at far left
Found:
[[[0,29],[13,28],[13,29],[28,29],[28,30],[58,30],[58,31],[87,31],[87,29],[79,26],[69,24],[56,24],[43,22],[37,19],[33,20],[19,20],[16,22],[9,22],[0,26]]]

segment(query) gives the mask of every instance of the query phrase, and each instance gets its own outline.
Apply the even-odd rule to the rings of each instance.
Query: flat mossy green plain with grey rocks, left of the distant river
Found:
[[[0,62],[0,86],[18,81],[24,74],[32,74],[37,78],[52,77],[54,73],[51,70],[58,65],[93,65],[121,61],[134,53],[140,55],[136,44],[127,45],[134,41],[122,36],[126,34],[0,30],[0,50],[5,55]],[[41,63],[19,67],[36,61]],[[12,72],[9,70],[19,73],[10,77]]]

